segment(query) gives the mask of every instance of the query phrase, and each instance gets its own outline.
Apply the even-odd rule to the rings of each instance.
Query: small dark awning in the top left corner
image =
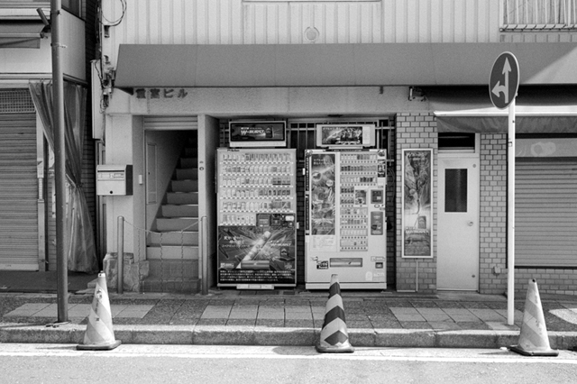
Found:
[[[0,48],[40,48],[44,24],[38,21],[0,21]]]

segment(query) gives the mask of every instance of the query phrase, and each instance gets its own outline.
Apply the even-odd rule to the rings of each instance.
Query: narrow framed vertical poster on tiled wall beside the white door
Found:
[[[432,155],[430,149],[403,150],[402,257],[433,257]]]

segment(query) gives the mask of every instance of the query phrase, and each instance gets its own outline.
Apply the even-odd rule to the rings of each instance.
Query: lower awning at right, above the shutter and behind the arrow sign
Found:
[[[507,133],[508,109],[490,102],[487,87],[424,87],[439,132]],[[519,87],[517,133],[577,133],[577,86]]]

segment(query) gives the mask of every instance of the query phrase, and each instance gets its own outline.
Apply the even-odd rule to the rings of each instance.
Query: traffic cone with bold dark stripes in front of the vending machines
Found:
[[[325,322],[321,330],[318,352],[354,352],[349,343],[349,334],[344,322],[343,298],[338,275],[331,277],[331,286],[328,291],[328,301],[325,308]]]

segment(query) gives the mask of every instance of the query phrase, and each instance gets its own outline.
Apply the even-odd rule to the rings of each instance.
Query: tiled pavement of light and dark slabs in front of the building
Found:
[[[56,321],[55,295],[0,294],[0,336],[14,325],[39,326]],[[69,322],[86,328],[92,295],[69,298]],[[301,329],[318,332],[325,316],[325,293],[283,295],[169,296],[110,295],[115,329],[122,326],[170,326],[219,332],[260,332]],[[523,323],[524,300],[515,302],[515,325],[507,325],[507,299],[482,295],[349,295],[343,293],[346,325],[350,332],[455,332],[517,334]],[[547,330],[577,340],[577,297],[543,300]],[[193,327],[193,328],[190,328]],[[123,328],[124,329],[124,328]],[[180,329],[180,328],[179,328]],[[239,331],[240,330],[240,331]],[[0,337],[0,341],[2,338]],[[475,342],[476,343],[476,342]]]

